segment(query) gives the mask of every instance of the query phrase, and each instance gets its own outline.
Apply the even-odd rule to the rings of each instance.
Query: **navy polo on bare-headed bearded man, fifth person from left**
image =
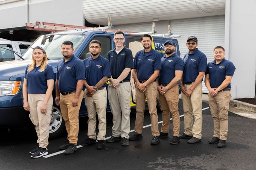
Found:
[[[151,48],[149,52],[138,51],[134,58],[134,69],[137,69],[139,80],[147,80],[155,70],[161,70],[161,57],[158,51]]]

